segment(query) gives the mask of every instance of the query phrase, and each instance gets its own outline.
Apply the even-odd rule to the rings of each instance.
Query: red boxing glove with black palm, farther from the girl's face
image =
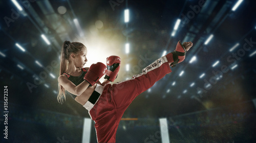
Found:
[[[106,58],[106,67],[108,67],[108,70],[106,71],[104,78],[113,82],[117,78],[118,71],[120,69],[120,63],[121,59],[119,56],[111,55]]]

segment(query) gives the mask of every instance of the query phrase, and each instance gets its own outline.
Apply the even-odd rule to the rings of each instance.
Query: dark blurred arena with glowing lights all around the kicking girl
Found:
[[[0,1],[0,142],[97,142],[88,111],[57,102],[64,41],[87,46],[86,67],[122,62],[132,78],[179,40],[193,47],[124,112],[116,142],[256,140],[256,1]],[[104,79],[100,79],[102,82]]]

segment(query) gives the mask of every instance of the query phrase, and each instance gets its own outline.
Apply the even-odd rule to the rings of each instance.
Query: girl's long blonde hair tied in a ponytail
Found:
[[[61,47],[60,53],[60,68],[59,75],[62,75],[68,69],[68,62],[71,53],[78,54],[83,48],[86,48],[80,42],[65,41]],[[58,96],[57,100],[59,103],[63,103],[66,100],[65,89],[58,84]]]

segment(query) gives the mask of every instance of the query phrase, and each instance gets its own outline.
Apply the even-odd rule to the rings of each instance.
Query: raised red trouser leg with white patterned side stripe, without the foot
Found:
[[[156,81],[172,72],[166,56],[163,56],[142,70],[142,73],[134,75],[132,79],[113,84],[113,98],[117,108],[129,106],[131,102],[142,92],[151,88]]]

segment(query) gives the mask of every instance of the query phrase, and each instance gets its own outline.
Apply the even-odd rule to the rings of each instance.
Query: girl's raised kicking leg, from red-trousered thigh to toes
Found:
[[[156,81],[163,78],[166,74],[172,72],[169,66],[174,67],[176,64],[184,61],[186,51],[193,46],[192,42],[177,43],[176,49],[153,62],[142,70],[141,74],[133,76],[132,79],[117,82],[113,84],[113,97],[116,106],[127,107],[142,92],[151,88]]]

